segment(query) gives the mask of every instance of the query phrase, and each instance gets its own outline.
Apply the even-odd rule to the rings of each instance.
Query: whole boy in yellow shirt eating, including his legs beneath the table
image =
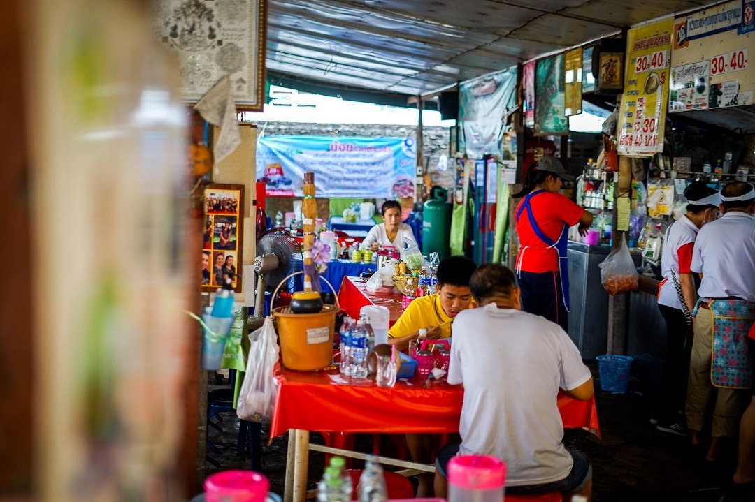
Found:
[[[417,340],[421,328],[427,329],[427,339],[451,336],[451,323],[456,314],[472,307],[470,277],[477,265],[464,256],[451,256],[438,265],[437,292],[412,301],[399,320],[388,330],[388,343],[406,351],[409,341]],[[423,464],[433,461],[433,435],[407,434],[406,445],[411,460]],[[433,497],[433,474],[419,476],[417,497]]]

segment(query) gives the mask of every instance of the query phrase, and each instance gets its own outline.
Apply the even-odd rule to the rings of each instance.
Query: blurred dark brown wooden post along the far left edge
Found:
[[[22,0],[0,2],[0,47],[3,54],[3,75],[0,79],[0,137],[3,139],[3,167],[0,169],[0,213],[5,216],[5,243],[0,257],[5,264],[22,259],[26,266],[6,266],[0,284],[0,499],[30,500],[32,496],[32,440],[35,414],[32,399],[38,396],[32,384],[37,379],[38,356],[33,346],[51,336],[51,326],[37,326],[34,310],[45,305],[32,301],[32,277],[35,262],[29,211],[29,167],[27,148],[26,101],[23,75],[24,57],[21,44],[27,40],[21,26]],[[11,237],[12,236],[12,237]],[[11,245],[12,244],[12,245]],[[63,271],[61,271],[63,273]],[[33,308],[32,308],[33,306]],[[42,413],[41,411],[39,413]],[[39,418],[39,415],[36,416]],[[39,440],[38,438],[36,438]]]

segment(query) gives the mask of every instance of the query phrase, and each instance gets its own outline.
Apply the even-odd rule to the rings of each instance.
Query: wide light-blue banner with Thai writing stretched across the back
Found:
[[[257,182],[268,196],[302,197],[304,172],[318,197],[414,197],[414,138],[261,136]]]

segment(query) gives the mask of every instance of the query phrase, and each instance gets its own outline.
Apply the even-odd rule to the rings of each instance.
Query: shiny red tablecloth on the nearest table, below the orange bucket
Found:
[[[342,433],[450,433],[459,430],[461,385],[414,377],[395,387],[350,381],[330,372],[277,368],[279,387],[270,437],[288,429]],[[564,428],[584,427],[599,435],[595,400],[559,393]]]

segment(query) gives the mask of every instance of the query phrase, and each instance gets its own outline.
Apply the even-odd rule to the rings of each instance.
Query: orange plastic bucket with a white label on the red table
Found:
[[[335,305],[323,305],[316,314],[294,314],[289,307],[274,308],[283,366],[301,372],[331,366],[335,314],[339,310]]]

